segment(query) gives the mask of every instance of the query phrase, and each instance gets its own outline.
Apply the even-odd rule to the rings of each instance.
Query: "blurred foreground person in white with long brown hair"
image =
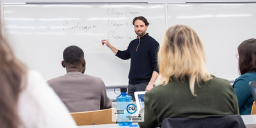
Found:
[[[1,128],[76,127],[60,98],[38,72],[17,60],[2,33],[0,65]]]

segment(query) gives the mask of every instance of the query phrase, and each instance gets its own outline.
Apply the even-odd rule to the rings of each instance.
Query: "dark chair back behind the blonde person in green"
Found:
[[[161,128],[245,128],[240,115],[227,115],[208,118],[165,118]]]

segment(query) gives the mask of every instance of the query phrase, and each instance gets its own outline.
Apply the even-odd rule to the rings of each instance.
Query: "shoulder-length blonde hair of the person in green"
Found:
[[[195,94],[195,83],[212,79],[205,67],[205,54],[202,42],[196,32],[188,26],[176,25],[169,28],[159,49],[159,79],[157,85],[169,81],[189,80],[192,95]]]

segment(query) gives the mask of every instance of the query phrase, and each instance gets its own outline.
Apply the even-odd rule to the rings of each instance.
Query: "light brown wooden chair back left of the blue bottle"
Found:
[[[84,111],[70,113],[77,125],[116,124],[112,122],[115,118],[116,108],[101,109],[97,111]],[[113,115],[113,116],[112,116]],[[113,119],[116,120],[116,119]]]

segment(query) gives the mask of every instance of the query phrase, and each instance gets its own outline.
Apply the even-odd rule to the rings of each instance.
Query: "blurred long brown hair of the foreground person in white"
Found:
[[[26,67],[15,58],[0,32],[0,127],[20,127],[17,107],[25,79]]]

